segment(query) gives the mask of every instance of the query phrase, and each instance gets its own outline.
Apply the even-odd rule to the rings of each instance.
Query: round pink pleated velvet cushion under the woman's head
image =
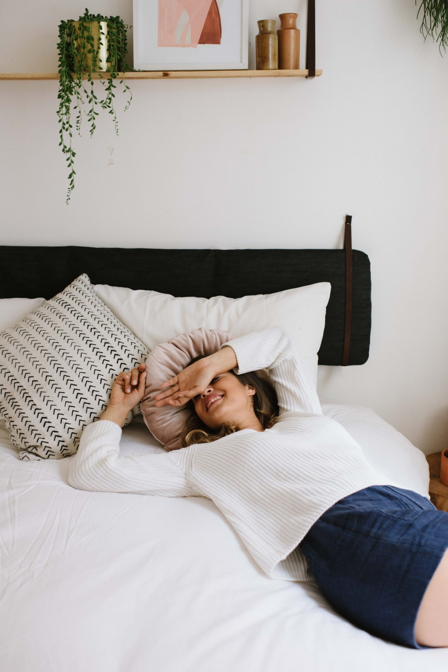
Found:
[[[140,408],[148,429],[166,450],[182,448],[180,435],[191,411],[184,406],[156,407],[156,394],[162,392],[160,385],[176,376],[194,357],[211,355],[217,352],[223,343],[230,340],[231,335],[228,331],[202,327],[188,334],[180,334],[168,343],[156,345],[148,356],[146,390]]]

